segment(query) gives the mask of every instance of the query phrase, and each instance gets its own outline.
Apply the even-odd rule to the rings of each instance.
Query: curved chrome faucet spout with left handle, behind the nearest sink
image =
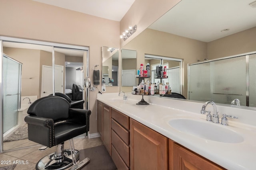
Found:
[[[210,111],[206,111],[206,106],[208,104],[212,104],[212,108],[213,108],[213,114],[211,115],[211,112]],[[208,102],[205,102],[202,106],[202,109],[201,109],[201,114],[205,114],[205,113],[208,113],[206,115],[206,120],[207,121],[212,121],[213,123],[220,123],[219,121],[219,115],[218,115],[218,111],[217,111],[217,107],[216,107],[216,104],[212,101],[208,101]]]

